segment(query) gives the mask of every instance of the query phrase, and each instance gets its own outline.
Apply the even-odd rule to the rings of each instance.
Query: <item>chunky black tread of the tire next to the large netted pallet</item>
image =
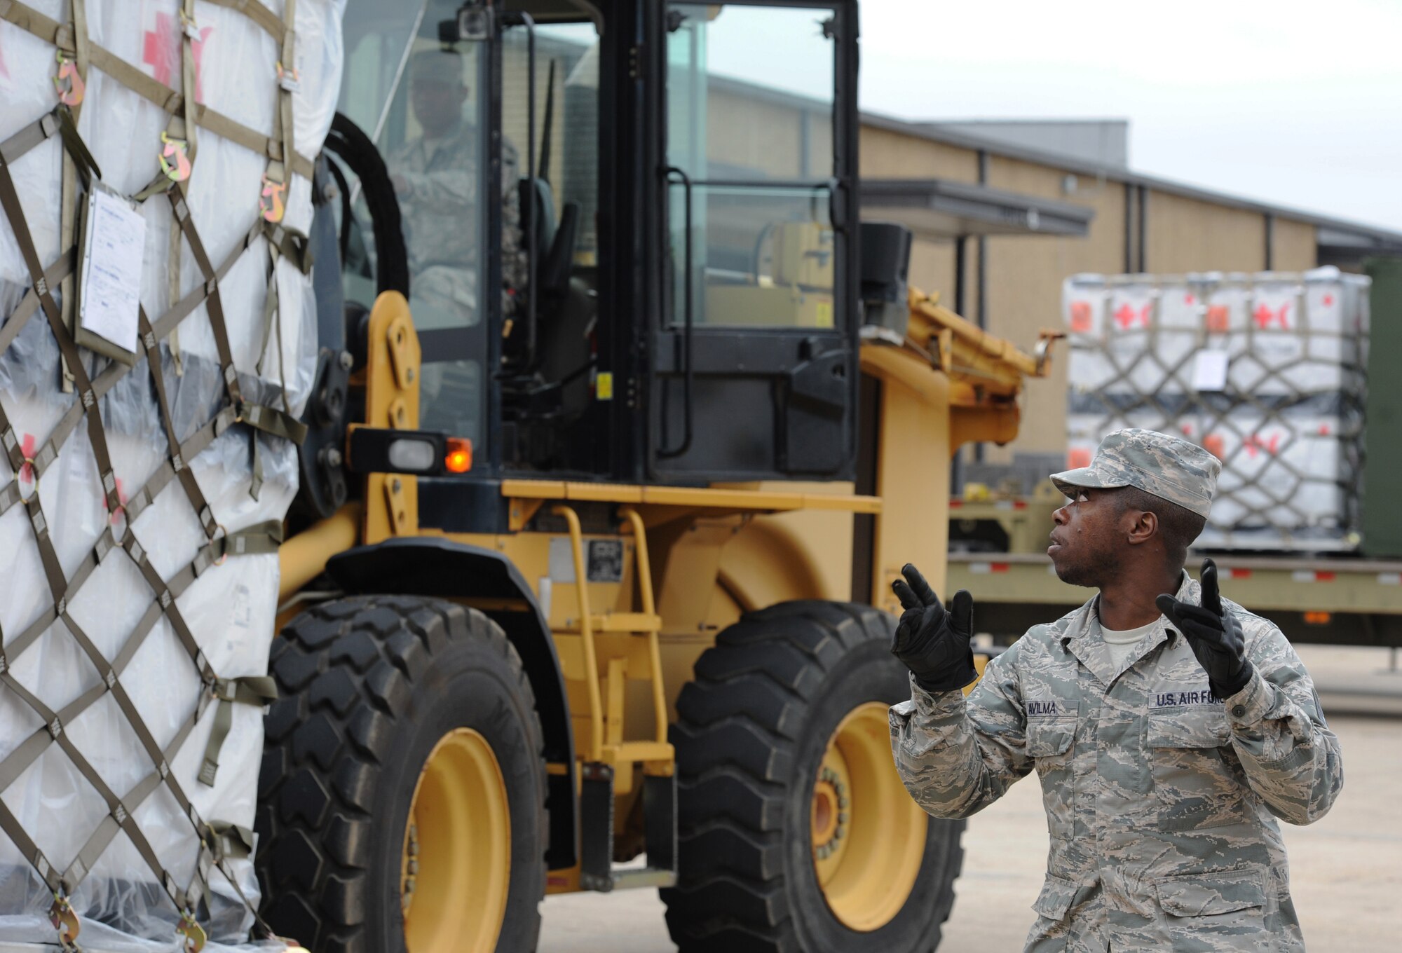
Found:
[[[450,643],[467,639],[508,660],[513,690],[534,711],[506,635],[453,603],[350,597],[315,605],[283,628],[269,663],[280,698],[265,716],[255,859],[264,915],[279,933],[311,950],[380,953],[362,932],[380,764],[414,683]],[[534,747],[544,778],[538,722]],[[537,820],[537,830],[550,830],[544,800]],[[544,890],[543,853],[537,896]]]

